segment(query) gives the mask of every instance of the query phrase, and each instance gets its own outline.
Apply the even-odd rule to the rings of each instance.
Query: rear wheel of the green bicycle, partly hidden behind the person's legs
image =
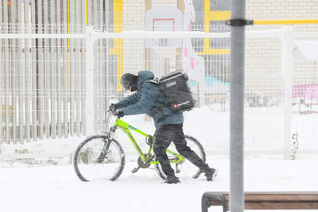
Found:
[[[191,136],[185,136],[185,139],[187,141],[187,145],[198,155],[198,157],[200,157],[202,159],[203,162],[206,162],[206,153],[205,150],[203,148],[203,146],[201,145],[200,142],[198,142],[195,138],[191,137]],[[177,150],[174,147],[173,142],[171,142],[170,146],[168,147],[168,149],[171,149],[172,151],[177,152]],[[169,158],[169,156],[168,156]],[[176,174],[176,176],[178,178],[198,178],[201,174],[200,172],[200,168],[196,167],[194,164],[192,164],[190,161],[188,161],[186,158],[184,158],[184,162],[180,165],[178,165],[178,168],[180,168],[180,173],[176,173],[176,168],[175,165],[173,163],[171,163],[171,167],[174,170],[174,173]],[[155,169],[157,171],[157,174],[163,179],[166,180],[167,177],[165,175],[165,173],[163,172],[161,165],[160,164],[156,164],[155,165]]]

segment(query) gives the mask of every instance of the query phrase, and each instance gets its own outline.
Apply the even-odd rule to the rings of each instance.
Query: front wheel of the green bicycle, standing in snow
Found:
[[[110,145],[107,153],[103,154],[107,142]],[[82,181],[114,181],[123,172],[125,153],[115,139],[109,140],[105,135],[97,134],[78,145],[74,152],[73,165],[76,175]]]

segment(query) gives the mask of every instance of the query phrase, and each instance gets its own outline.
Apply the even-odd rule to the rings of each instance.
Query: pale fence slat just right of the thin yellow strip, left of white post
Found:
[[[75,0],[70,1],[70,33],[74,33]],[[70,39],[70,134],[74,136],[74,38]]]

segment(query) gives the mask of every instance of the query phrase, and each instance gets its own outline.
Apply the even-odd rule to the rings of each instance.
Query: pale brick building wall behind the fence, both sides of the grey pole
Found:
[[[160,4],[176,6],[177,1],[153,1],[153,6]],[[125,27],[131,28],[131,26],[143,25],[144,13],[145,0],[124,0]],[[254,20],[317,19],[318,0],[246,0],[246,18]],[[279,28],[282,26],[261,26],[261,28],[266,27]],[[247,27],[247,30],[255,28],[260,28],[260,26]],[[303,28],[303,26],[295,26],[295,28]],[[313,27],[310,26],[309,28],[312,29]],[[145,67],[143,40],[124,40],[123,46],[124,72],[143,70]],[[281,51],[282,44],[277,38],[253,38],[246,40],[246,92],[260,91],[272,94],[283,89]],[[173,50],[157,50],[157,55],[170,58],[170,66],[175,66],[173,64],[175,63]],[[162,67],[158,67],[158,69],[161,70]],[[295,63],[293,65],[293,84],[310,83],[312,75],[313,63]]]

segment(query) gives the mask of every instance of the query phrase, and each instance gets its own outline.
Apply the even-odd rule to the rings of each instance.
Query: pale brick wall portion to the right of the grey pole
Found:
[[[246,0],[246,18],[253,20],[297,20],[297,19],[318,19],[317,0]],[[277,28],[282,26],[261,26],[262,28]],[[258,28],[253,26],[251,28]],[[294,28],[302,30],[317,31],[318,25],[304,26],[295,25]],[[263,48],[260,39],[246,42],[246,90],[263,89],[266,92],[282,90],[283,78],[280,70],[281,42],[270,43],[269,47]],[[263,46],[263,47],[262,47]],[[272,52],[274,50],[274,52]],[[261,52],[262,51],[262,52]],[[275,53],[276,52],[276,53]],[[279,53],[278,55],[276,55]],[[264,57],[263,55],[269,57]],[[276,55],[276,56],[273,56]],[[253,60],[257,58],[257,62]],[[255,65],[255,63],[257,65]],[[266,64],[268,63],[268,64]],[[276,64],[273,66],[272,64]],[[254,67],[254,68],[250,68]],[[266,68],[266,73],[262,73]],[[279,68],[279,69],[277,69]],[[263,83],[257,81],[262,76]],[[313,62],[293,62],[292,83],[311,83],[313,79]],[[264,84],[264,82],[267,82]],[[317,82],[317,80],[316,80]],[[268,87],[266,87],[268,85]]]

